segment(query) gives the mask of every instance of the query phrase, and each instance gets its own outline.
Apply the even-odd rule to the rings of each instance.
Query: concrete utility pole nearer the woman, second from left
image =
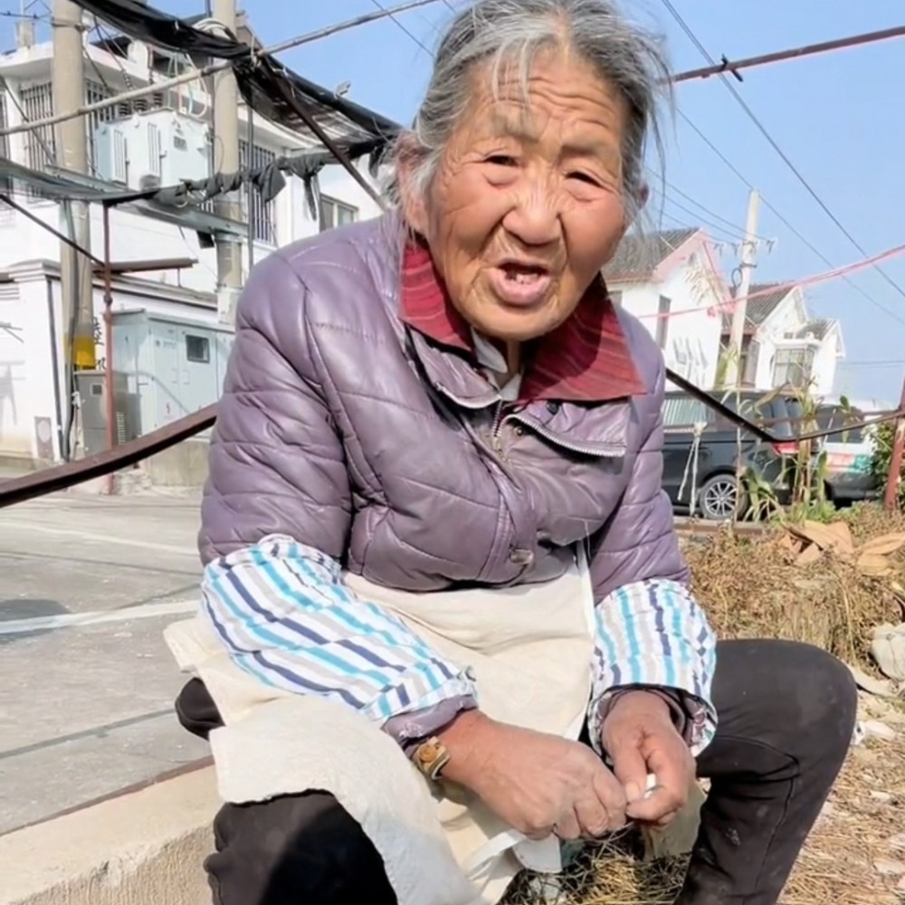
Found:
[[[211,13],[217,24],[236,33],[236,0],[212,0]],[[239,169],[239,86],[232,68],[214,75],[214,167],[223,173]],[[242,206],[234,192],[220,195],[215,210],[229,220],[242,221]],[[221,317],[232,321],[235,297],[242,288],[242,246],[229,236],[217,236],[216,242],[218,307]]]

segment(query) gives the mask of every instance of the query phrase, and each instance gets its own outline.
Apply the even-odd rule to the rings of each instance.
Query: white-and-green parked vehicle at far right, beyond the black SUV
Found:
[[[848,427],[871,413],[851,406],[826,404],[817,409],[820,430],[846,427],[820,441],[824,453],[824,480],[827,498],[836,504],[875,500],[881,489],[871,472],[876,427]]]

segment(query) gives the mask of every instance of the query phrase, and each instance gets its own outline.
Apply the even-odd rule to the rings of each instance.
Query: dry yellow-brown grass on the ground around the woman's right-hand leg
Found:
[[[844,517],[856,543],[905,531],[905,518],[874,507]],[[865,672],[872,626],[899,622],[890,577],[864,576],[824,555],[812,565],[792,562],[781,529],[766,537],[720,533],[691,541],[686,555],[697,595],[722,637],[781,637],[818,644]],[[905,557],[892,558],[905,584]],[[878,859],[898,860],[889,840],[905,829],[905,713],[869,700],[867,717],[900,730],[894,742],[854,748],[783,898],[784,905],[885,905],[902,902],[895,885],[877,872]],[[879,710],[882,712],[879,712]],[[873,794],[872,794],[873,793]],[[589,850],[567,873],[567,905],[670,905],[684,863],[643,862],[632,834]],[[508,899],[529,905],[535,895],[520,884]]]

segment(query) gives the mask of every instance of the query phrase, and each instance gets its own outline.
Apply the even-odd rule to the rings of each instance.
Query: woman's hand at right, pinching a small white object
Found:
[[[647,691],[622,695],[606,716],[601,743],[625,789],[626,816],[668,824],[688,801],[695,764],[666,701]],[[657,785],[645,795],[649,774]]]

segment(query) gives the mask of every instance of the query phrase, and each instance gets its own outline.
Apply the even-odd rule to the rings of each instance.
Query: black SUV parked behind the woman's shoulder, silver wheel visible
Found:
[[[799,431],[801,405],[794,398],[773,392],[742,390],[711,393],[724,405],[762,425],[779,442],[765,443],[741,432],[742,470],[751,469],[767,481],[777,500],[789,497],[791,476],[798,452],[795,433]],[[697,491],[695,514],[704,519],[731,519],[748,511],[744,485],[737,487],[738,439],[736,425],[699,399],[681,391],[668,391],[663,402],[663,489],[675,510],[691,509],[691,488]],[[700,437],[697,439],[699,432]],[[694,472],[697,458],[697,472]]]

